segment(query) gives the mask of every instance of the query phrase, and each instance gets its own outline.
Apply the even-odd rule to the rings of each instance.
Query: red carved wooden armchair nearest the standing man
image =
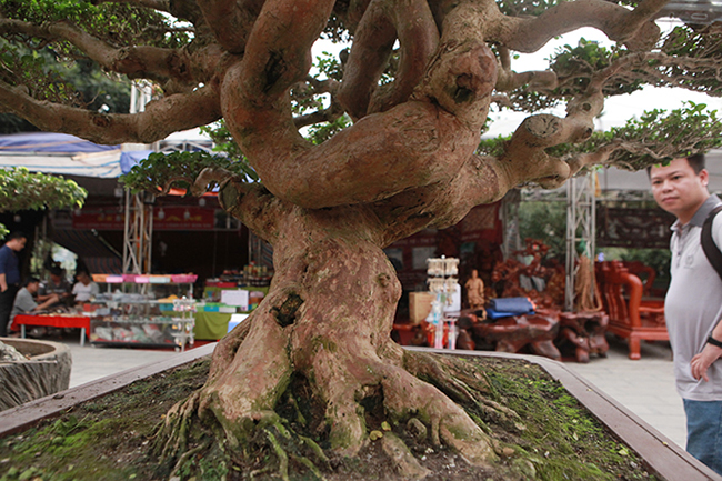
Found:
[[[664,302],[642,300],[642,281],[620,261],[598,262],[596,280],[609,315],[606,330],[629,340],[630,359],[640,359],[642,340],[670,339],[664,322]]]

